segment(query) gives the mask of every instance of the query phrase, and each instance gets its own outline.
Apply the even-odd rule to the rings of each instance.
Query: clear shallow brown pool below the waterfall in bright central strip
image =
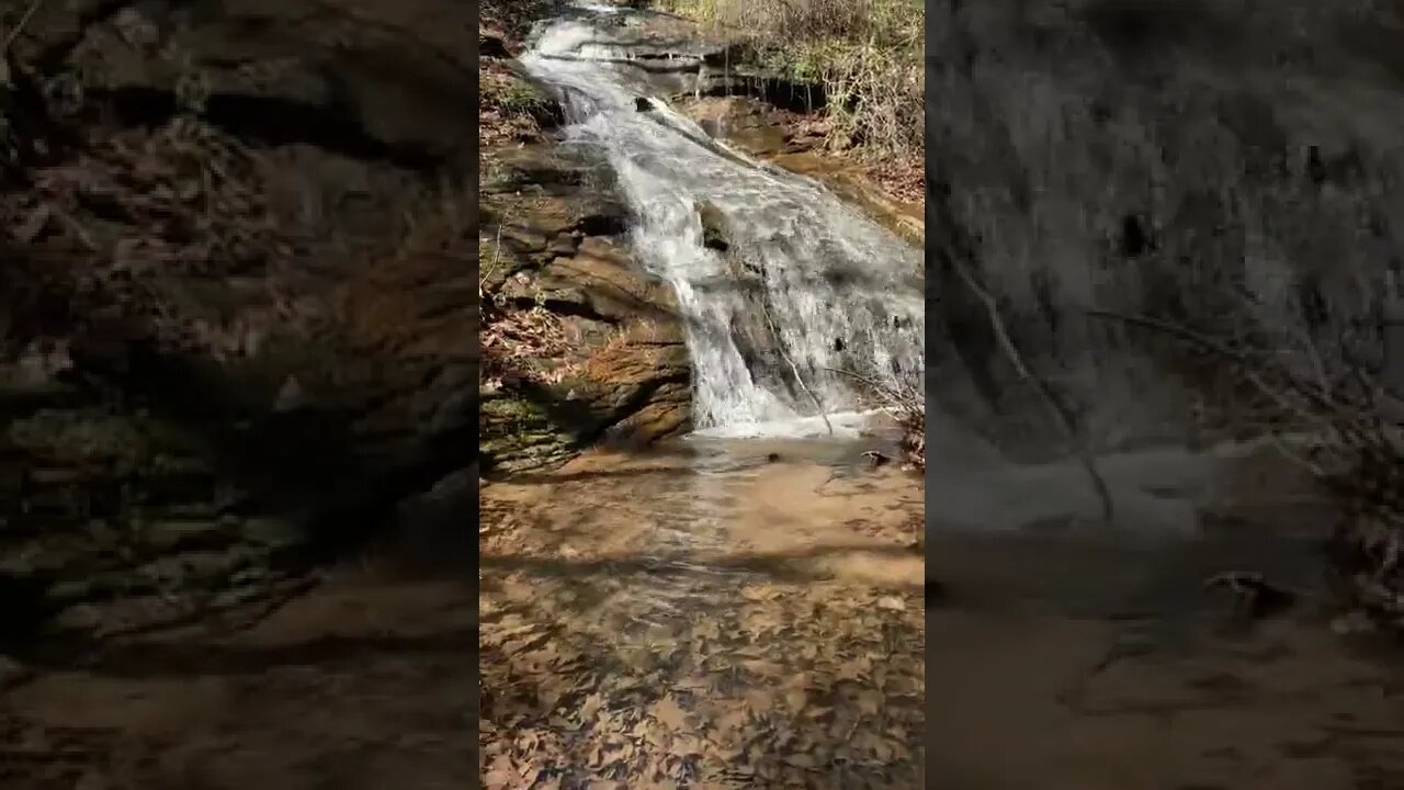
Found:
[[[486,488],[483,786],[922,787],[921,488],[861,450]]]

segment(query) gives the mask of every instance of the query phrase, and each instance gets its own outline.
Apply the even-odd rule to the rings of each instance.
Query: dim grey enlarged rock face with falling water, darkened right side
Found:
[[[1193,387],[1102,308],[1323,342],[1404,250],[1397,3],[928,4],[928,374],[987,423],[1036,415],[955,277],[984,277],[1098,443],[1179,437]],[[1234,290],[1266,304],[1254,313]],[[1367,302],[1369,299],[1363,299]],[[1196,374],[1198,375],[1198,374]],[[935,391],[935,389],[934,389]],[[979,405],[972,405],[979,403]],[[1053,441],[1035,417],[1014,433]],[[1168,427],[1167,427],[1168,426]],[[1052,427],[1049,430],[1053,430]]]

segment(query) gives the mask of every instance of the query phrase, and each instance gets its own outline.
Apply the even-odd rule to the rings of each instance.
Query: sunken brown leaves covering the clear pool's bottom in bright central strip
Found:
[[[917,590],[698,562],[673,576],[591,565],[621,545],[651,550],[642,536],[684,506],[675,482],[656,482],[653,500],[637,479],[563,475],[525,498],[483,489],[512,513],[484,534],[484,557],[539,559],[484,562],[484,787],[921,787]],[[615,502],[630,514],[609,523]],[[724,531],[689,538],[694,554],[734,548]],[[562,571],[563,557],[580,571]]]

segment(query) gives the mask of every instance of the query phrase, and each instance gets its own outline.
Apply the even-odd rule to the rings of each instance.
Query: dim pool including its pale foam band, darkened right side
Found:
[[[966,458],[928,479],[932,786],[1404,786],[1397,648],[1328,627],[1330,509],[1289,467],[1251,447],[1101,458],[1102,524],[1075,464]],[[1233,571],[1294,606],[1243,616],[1203,586]]]

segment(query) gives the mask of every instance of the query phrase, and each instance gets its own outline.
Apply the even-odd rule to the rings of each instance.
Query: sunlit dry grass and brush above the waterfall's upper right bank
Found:
[[[910,0],[665,0],[741,37],[760,62],[823,83],[830,145],[854,148],[900,194],[920,195],[924,10]]]

